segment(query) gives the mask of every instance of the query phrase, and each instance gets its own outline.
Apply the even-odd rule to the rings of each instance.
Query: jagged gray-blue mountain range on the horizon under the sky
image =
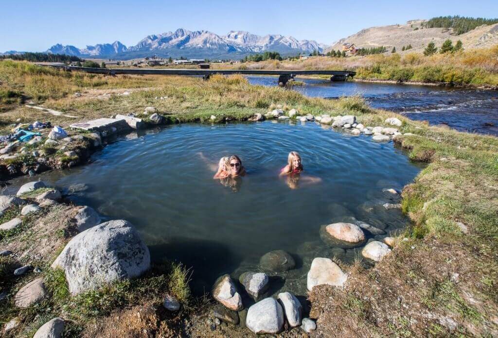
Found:
[[[292,36],[269,34],[259,36],[245,31],[230,31],[227,35],[179,28],[174,32],[148,35],[136,45],[126,47],[119,41],[97,44],[79,49],[72,45],[56,44],[46,53],[66,54],[86,58],[113,58],[118,60],[157,55],[161,57],[228,58],[238,59],[245,55],[265,51],[282,55],[323,52],[327,46],[312,40],[297,40]],[[15,51],[5,54],[14,54]]]

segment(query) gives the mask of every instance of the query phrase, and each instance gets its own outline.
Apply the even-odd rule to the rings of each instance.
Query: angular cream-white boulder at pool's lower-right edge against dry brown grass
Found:
[[[308,272],[307,288],[311,291],[315,286],[327,284],[343,286],[348,275],[329,258],[317,257],[311,262]]]

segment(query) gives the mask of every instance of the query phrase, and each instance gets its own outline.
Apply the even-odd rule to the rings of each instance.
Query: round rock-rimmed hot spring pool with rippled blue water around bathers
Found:
[[[320,183],[278,177],[290,151],[300,153],[303,175],[320,177]],[[247,176],[221,184],[208,163],[232,154],[241,157]],[[320,226],[354,216],[386,234],[403,228],[407,220],[401,211],[382,207],[397,203],[382,189],[401,189],[420,170],[391,142],[375,143],[313,122],[169,126],[127,135],[93,160],[36,178],[60,187],[88,185],[72,198],[105,218],[130,221],[153,261],[192,267],[196,293],[209,291],[224,273],[238,278],[259,270],[263,254],[281,249],[294,256],[296,268],[279,273],[273,291],[305,294],[314,257],[352,262],[360,256],[361,248],[327,246]]]

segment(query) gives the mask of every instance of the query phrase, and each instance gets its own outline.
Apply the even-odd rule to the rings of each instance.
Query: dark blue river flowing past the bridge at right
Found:
[[[248,77],[251,84],[276,85],[274,77]],[[438,86],[330,82],[302,79],[293,90],[311,97],[338,98],[360,94],[374,108],[402,113],[412,120],[447,124],[471,133],[498,135],[498,91]]]

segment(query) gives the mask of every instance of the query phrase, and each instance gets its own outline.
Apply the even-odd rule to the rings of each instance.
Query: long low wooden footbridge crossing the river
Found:
[[[46,65],[45,65],[46,66]],[[298,75],[330,75],[331,81],[346,81],[353,78],[353,71],[268,71],[268,70],[235,70],[235,69],[131,69],[131,68],[90,68],[76,66],[49,65],[50,67],[63,69],[65,71],[80,71],[94,74],[135,74],[135,75],[190,75],[202,76],[209,79],[213,74],[242,74],[242,75],[273,75],[278,76],[278,84],[285,85],[290,79]]]

